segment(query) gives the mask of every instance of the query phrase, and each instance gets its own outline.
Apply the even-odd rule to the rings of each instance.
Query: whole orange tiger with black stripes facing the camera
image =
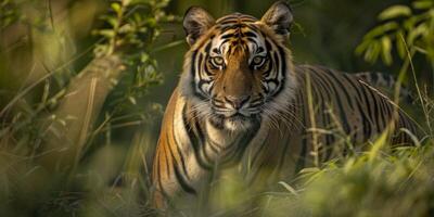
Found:
[[[242,13],[214,20],[200,7],[186,12],[190,49],[153,162],[157,208],[175,197],[190,202],[203,180],[227,168],[260,189],[352,151],[339,145],[348,141],[363,148],[390,130],[392,144],[411,143],[399,129],[416,133],[416,124],[367,74],[293,63],[292,23],[284,1],[260,20]]]

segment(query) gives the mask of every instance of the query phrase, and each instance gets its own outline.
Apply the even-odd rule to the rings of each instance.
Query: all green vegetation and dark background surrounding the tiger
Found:
[[[0,0],[0,215],[155,215],[149,167],[188,49],[180,17],[193,4],[260,17],[272,2]],[[261,195],[226,180],[195,215],[433,215],[434,2],[291,4],[295,63],[399,76],[424,145],[390,150],[380,139]]]

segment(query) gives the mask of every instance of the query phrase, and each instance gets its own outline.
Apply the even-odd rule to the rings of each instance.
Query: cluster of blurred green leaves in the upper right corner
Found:
[[[434,66],[433,1],[417,0],[411,8],[392,5],[382,11],[378,18],[383,23],[363,37],[356,49],[357,54],[363,54],[363,59],[370,63],[381,56],[383,63],[391,65],[393,52],[400,60],[408,59],[407,52],[411,58],[418,52],[425,55],[426,62]]]

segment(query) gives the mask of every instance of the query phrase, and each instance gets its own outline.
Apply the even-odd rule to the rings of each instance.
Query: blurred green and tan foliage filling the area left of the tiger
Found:
[[[162,108],[141,99],[162,82],[151,51],[167,3],[1,2],[2,216],[153,212],[145,124]],[[135,140],[113,141],[131,126]]]

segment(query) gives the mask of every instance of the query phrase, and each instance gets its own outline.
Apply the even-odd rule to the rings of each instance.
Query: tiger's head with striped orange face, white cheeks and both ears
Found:
[[[296,86],[285,47],[292,21],[285,2],[275,3],[260,20],[233,13],[215,21],[202,8],[187,11],[190,50],[180,91],[199,118],[240,131],[288,107]]]

